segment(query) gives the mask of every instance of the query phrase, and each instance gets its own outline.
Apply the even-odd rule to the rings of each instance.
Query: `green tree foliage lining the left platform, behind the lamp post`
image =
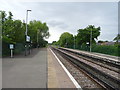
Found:
[[[5,11],[0,11],[0,17],[2,17],[2,42],[3,42],[3,54],[7,55],[9,53],[9,44],[13,43],[14,45],[18,45],[15,52],[21,52],[23,50],[25,44],[25,32],[26,32],[26,24],[22,23],[21,20],[13,20],[13,15],[9,12],[7,14]],[[33,42],[33,47],[46,46],[48,43],[45,41],[45,38],[49,38],[49,28],[46,23],[42,23],[40,21],[30,21],[28,26],[28,35],[31,37],[31,41]]]

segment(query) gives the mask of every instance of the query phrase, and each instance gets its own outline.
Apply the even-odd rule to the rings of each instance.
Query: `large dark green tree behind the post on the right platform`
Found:
[[[78,34],[76,36],[77,46],[81,46],[82,44],[90,45],[90,37],[92,31],[92,43],[96,43],[95,39],[100,35],[100,27],[95,27],[94,25],[89,25],[84,29],[79,29]]]

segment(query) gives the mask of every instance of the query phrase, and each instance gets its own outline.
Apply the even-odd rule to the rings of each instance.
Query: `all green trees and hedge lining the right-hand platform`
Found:
[[[94,25],[89,25],[84,29],[79,29],[77,36],[74,36],[68,32],[63,33],[58,41],[53,41],[52,45],[57,45],[61,47],[74,48],[75,49],[90,51],[90,35],[92,31],[92,52],[98,52],[108,55],[120,56],[120,44],[115,45],[96,45],[95,39],[100,35],[100,27],[95,27]],[[119,40],[120,35],[114,38],[114,40]],[[75,43],[74,43],[75,39]],[[108,41],[98,41],[98,43],[103,43]]]

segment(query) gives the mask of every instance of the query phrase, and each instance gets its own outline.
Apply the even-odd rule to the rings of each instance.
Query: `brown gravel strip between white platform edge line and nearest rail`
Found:
[[[83,89],[97,89],[97,90],[103,90],[102,87],[97,84],[95,81],[93,81],[90,77],[88,77],[86,74],[84,74],[82,71],[77,69],[74,65],[72,65],[70,62],[68,62],[66,59],[64,59],[61,55],[56,53],[58,58],[61,60],[61,62],[65,65],[65,67],[68,69],[68,71],[73,75],[73,77],[77,80],[77,82],[81,85]]]

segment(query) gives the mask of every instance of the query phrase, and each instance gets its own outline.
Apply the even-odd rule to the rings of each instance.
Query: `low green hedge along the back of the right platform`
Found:
[[[72,48],[73,49],[73,48]],[[76,49],[90,51],[90,47],[88,45],[77,46]],[[120,56],[120,44],[119,45],[92,45],[92,52],[103,53],[113,56]]]

